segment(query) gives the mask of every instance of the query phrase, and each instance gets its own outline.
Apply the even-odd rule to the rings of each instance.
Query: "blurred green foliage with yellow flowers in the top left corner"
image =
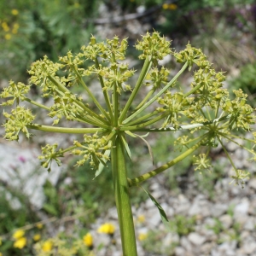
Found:
[[[0,3],[1,61],[3,77],[21,77],[29,63],[51,55],[55,60],[67,50],[78,51],[88,41],[100,1],[7,1]],[[11,67],[11,68],[10,68]],[[9,73],[9,70],[12,73]]]

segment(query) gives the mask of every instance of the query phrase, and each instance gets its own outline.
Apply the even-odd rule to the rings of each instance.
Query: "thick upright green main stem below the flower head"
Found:
[[[119,228],[121,233],[123,255],[137,256],[136,237],[125,166],[125,150],[120,137],[113,138],[111,159],[113,189],[119,216]]]

